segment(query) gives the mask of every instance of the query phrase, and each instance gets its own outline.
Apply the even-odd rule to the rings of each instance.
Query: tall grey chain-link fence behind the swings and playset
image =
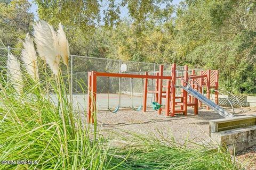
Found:
[[[12,53],[19,60],[21,59],[21,50],[10,47],[0,47],[0,70],[2,75],[6,74],[8,54]],[[22,61],[20,60],[22,63]],[[60,63],[60,69],[63,75],[63,80],[68,87],[68,77],[70,75],[71,94],[73,98],[74,108],[79,110],[86,109],[87,100],[87,78],[88,72],[108,72],[108,73],[122,73],[121,65],[126,64],[126,74],[145,74],[148,72],[149,75],[155,75],[159,71],[159,64],[155,63],[143,63],[143,62],[132,62],[123,60],[111,60],[108,58],[94,58],[87,56],[69,56],[68,68],[62,62]],[[21,65],[22,66],[22,65]],[[41,68],[42,67],[42,68]],[[39,69],[45,69],[45,74],[41,75],[41,82],[46,79],[47,74],[51,75],[49,67],[43,65],[39,66]],[[22,67],[21,69],[24,69]],[[67,74],[69,71],[69,74]],[[201,69],[195,69],[195,73],[199,74]],[[180,77],[184,74],[183,66],[177,66],[176,76]],[[189,71],[191,74],[191,71]],[[171,64],[164,65],[163,75],[171,75]],[[99,77],[97,79],[97,106],[99,109],[109,109],[119,106],[119,108],[131,108],[139,107],[142,105],[142,94],[143,94],[143,79],[131,79],[131,78],[108,78]],[[181,79],[177,79],[177,84],[181,84]],[[163,86],[166,85],[166,80],[163,80]],[[51,87],[45,84],[47,90],[51,92]],[[148,80],[148,90],[154,91],[156,86],[156,80]],[[49,89],[48,89],[49,88]],[[163,87],[163,91],[165,91]],[[51,94],[54,98],[55,94]],[[180,91],[177,90],[177,95],[180,95]],[[152,101],[155,101],[155,94],[148,94],[147,106],[151,105]],[[229,98],[232,101],[237,99]],[[53,99],[54,100],[54,99]],[[165,99],[162,101],[165,104]]]

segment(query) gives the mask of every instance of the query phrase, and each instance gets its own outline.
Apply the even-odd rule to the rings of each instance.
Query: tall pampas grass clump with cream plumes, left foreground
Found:
[[[32,162],[1,164],[0,169],[104,169],[119,164],[103,150],[97,123],[87,124],[68,100],[70,88],[63,81],[59,63],[63,55],[67,64],[69,51],[61,29],[57,35],[48,23],[37,22],[36,49],[27,35],[22,60],[9,56],[8,79],[0,80],[0,160]],[[45,70],[52,73],[47,71],[50,75],[46,76]]]

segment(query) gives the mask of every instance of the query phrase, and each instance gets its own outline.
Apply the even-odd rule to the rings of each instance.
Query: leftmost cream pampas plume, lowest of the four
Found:
[[[21,94],[23,82],[22,82],[22,74],[20,71],[20,63],[18,62],[17,58],[14,57],[14,55],[12,54],[8,55],[7,74],[15,90],[19,94]]]

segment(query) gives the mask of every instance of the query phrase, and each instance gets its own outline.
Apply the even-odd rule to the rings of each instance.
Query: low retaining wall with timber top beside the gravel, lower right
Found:
[[[231,154],[256,145],[256,116],[222,118],[209,125],[211,139]]]

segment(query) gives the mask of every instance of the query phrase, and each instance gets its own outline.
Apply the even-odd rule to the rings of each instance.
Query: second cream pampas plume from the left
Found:
[[[24,49],[21,52],[22,60],[25,63],[28,73],[34,80],[38,80],[38,67],[37,67],[37,57],[36,50],[34,47],[33,40],[27,34],[25,42],[23,42]]]

